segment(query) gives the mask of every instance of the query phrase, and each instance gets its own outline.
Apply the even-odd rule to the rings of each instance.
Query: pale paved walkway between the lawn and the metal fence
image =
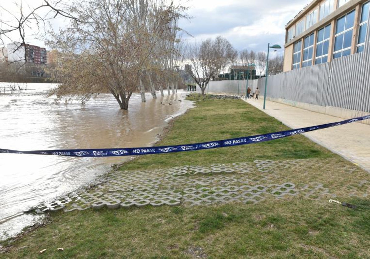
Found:
[[[292,129],[346,120],[267,100],[263,110],[263,98],[244,101]],[[370,125],[353,122],[303,135],[370,172]]]

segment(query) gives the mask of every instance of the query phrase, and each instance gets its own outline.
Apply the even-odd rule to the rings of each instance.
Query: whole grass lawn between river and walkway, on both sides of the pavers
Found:
[[[158,145],[286,129],[242,100],[206,99],[172,121]],[[261,171],[258,161],[270,161],[271,166]],[[107,177],[242,162],[250,165],[248,185],[258,186],[263,176],[266,186],[294,183],[296,195],[277,198],[273,192],[266,192],[259,202],[54,212],[46,226],[1,242],[6,252],[0,257],[370,258],[370,200],[366,196],[370,191],[369,174],[302,135],[238,147],[141,156]],[[242,177],[227,172],[221,175],[238,180]],[[191,185],[195,179],[216,176],[182,177]],[[211,185],[193,187],[202,190]],[[185,186],[178,188],[181,192]],[[331,198],[358,208],[329,203]],[[43,249],[47,250],[38,253]]]

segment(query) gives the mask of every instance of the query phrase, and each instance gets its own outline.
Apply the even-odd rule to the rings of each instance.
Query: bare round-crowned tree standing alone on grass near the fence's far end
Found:
[[[202,96],[214,75],[230,64],[237,52],[226,38],[202,41],[189,47],[188,56],[192,70],[189,71],[195,83],[201,88]]]

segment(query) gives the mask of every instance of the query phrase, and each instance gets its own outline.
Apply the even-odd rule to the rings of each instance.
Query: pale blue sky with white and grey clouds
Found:
[[[14,1],[1,0],[0,6],[14,12]],[[67,0],[62,0],[67,1]],[[283,46],[285,25],[311,0],[174,0],[189,7],[189,20],[182,20],[180,27],[193,37],[187,40],[200,42],[219,35],[227,38],[237,50],[266,51],[268,43]],[[42,0],[23,0],[24,4],[36,6]],[[9,20],[9,14],[0,9],[0,19]],[[65,22],[54,21],[55,27]],[[0,23],[0,26],[3,25]],[[28,29],[35,33],[36,26]],[[12,37],[12,40],[17,38]],[[35,36],[27,36],[27,42],[43,46],[43,41]],[[282,54],[283,50],[280,50]]]

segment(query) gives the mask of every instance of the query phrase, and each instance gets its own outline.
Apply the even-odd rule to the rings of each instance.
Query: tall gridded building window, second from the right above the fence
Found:
[[[353,10],[337,20],[333,58],[344,57],[351,54],[354,13]]]

